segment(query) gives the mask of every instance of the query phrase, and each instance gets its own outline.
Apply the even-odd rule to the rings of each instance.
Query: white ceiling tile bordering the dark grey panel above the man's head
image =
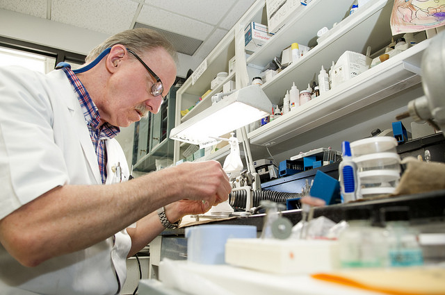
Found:
[[[147,5],[140,10],[137,22],[197,40],[205,40],[213,30],[209,24]]]

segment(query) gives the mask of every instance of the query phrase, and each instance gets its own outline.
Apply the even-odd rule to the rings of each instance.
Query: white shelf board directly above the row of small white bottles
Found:
[[[330,3],[327,0],[322,2],[319,5]],[[366,53],[368,46],[378,50],[389,44],[391,41],[389,17],[392,10],[392,3],[389,2],[387,0],[372,2],[367,8],[364,7],[363,10],[346,17],[337,25],[338,28],[332,29],[330,36],[321,44],[311,49],[295,64],[286,67],[271,81],[264,83],[261,88],[270,101],[282,104],[286,90],[289,90],[294,82],[299,90],[305,90],[309,82],[315,81],[321,65],[329,69],[332,61],[337,61],[346,50]],[[252,59],[252,62],[255,62],[255,59]]]

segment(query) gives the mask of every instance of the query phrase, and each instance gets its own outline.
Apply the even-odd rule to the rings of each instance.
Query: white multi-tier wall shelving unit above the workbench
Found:
[[[249,22],[265,22],[265,1],[257,1],[240,19],[218,47],[207,58],[208,71],[191,85],[188,79],[179,89],[176,125],[181,124],[211,105],[211,94],[198,103],[189,114],[180,118],[179,110],[191,106],[209,87],[211,79],[219,71],[227,71],[228,60],[236,54],[236,60],[245,60],[245,71],[237,65],[234,76],[238,81],[252,81],[264,66],[291,43],[308,45],[311,50],[270,81],[261,86],[272,103],[282,106],[286,90],[295,83],[299,90],[316,81],[321,66],[330,69],[345,51],[366,54],[371,57],[391,42],[390,17],[394,1],[369,1],[353,15],[348,15],[353,0],[313,0],[300,7],[293,18],[262,47],[250,56],[240,56],[235,28]],[[334,26],[334,23],[337,23]],[[317,39],[320,28],[330,30]],[[320,147],[332,146],[340,150],[343,140],[358,140],[369,136],[373,128],[391,128],[395,116],[406,110],[407,103],[423,95],[421,88],[421,58],[430,40],[424,40],[393,58],[382,62],[355,78],[325,92],[303,106],[294,108],[286,115],[248,133],[254,159],[269,158],[272,153],[276,162],[292,155]],[[224,49],[224,50],[223,50]],[[241,52],[244,53],[242,50]],[[217,61],[218,60],[218,61]],[[247,75],[247,77],[246,77]],[[200,81],[202,79],[202,81]],[[198,84],[198,82],[202,84]],[[239,83],[237,83],[239,85]],[[410,128],[411,119],[403,120]],[[175,145],[175,160],[186,146]]]

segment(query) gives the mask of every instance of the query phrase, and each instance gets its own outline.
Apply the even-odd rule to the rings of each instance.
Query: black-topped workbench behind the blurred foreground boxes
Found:
[[[407,206],[410,208],[412,226],[418,228],[421,233],[444,233],[445,234],[445,190],[426,192],[423,194],[412,194],[408,196],[392,196],[389,198],[360,200],[352,203],[327,205],[314,208],[314,218],[327,217],[334,222],[343,219],[343,214],[348,208],[368,208],[371,212],[378,212],[380,208],[391,206]],[[289,210],[282,212],[282,216],[288,218],[293,225],[302,218],[301,210]],[[229,224],[256,226],[258,235],[261,235],[265,214],[255,214],[249,217],[232,217],[229,219],[213,219],[202,221],[202,224]],[[380,222],[378,214],[375,222]],[[191,224],[191,226],[196,223]],[[187,227],[187,226],[186,226]],[[185,228],[164,230],[149,244],[149,278],[158,277],[159,262],[164,258],[171,260],[186,260],[187,240]],[[444,245],[442,245],[443,248]],[[425,260],[436,260],[445,258],[445,251],[437,248],[424,249]],[[437,255],[441,257],[437,257]]]

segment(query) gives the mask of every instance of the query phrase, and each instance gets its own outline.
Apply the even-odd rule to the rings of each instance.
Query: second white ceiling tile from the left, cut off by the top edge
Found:
[[[114,34],[130,28],[137,8],[130,0],[53,0],[51,20]]]

